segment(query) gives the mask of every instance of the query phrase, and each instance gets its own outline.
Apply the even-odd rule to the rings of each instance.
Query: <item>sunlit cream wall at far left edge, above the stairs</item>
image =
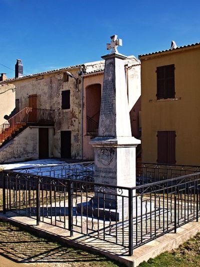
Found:
[[[15,92],[13,84],[0,85],[0,125],[5,122],[5,115],[10,115],[15,108]]]

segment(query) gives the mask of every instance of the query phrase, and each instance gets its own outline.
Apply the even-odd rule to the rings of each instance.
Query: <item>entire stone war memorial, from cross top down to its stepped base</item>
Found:
[[[140,140],[131,136],[124,71],[127,57],[117,53],[116,47],[121,41],[116,38],[111,36],[111,43],[107,45],[112,53],[102,57],[105,68],[98,136],[89,142],[94,148],[95,195],[83,212],[118,221],[128,216],[128,189],[120,187],[130,188],[136,184],[135,148]]]

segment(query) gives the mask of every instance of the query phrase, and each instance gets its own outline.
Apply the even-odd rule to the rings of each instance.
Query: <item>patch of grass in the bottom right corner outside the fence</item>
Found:
[[[200,233],[180,245],[171,252],[164,252],[147,262],[139,264],[139,267],[190,267],[200,266]]]

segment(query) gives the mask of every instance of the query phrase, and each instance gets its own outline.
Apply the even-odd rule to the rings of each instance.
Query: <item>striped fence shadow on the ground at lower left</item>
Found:
[[[87,262],[90,266],[117,266],[103,256],[36,237],[7,222],[0,222],[0,254],[20,263]]]

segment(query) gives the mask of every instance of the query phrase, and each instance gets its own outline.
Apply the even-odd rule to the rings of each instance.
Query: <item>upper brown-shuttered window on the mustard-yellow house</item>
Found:
[[[174,65],[157,67],[157,99],[175,97]]]

